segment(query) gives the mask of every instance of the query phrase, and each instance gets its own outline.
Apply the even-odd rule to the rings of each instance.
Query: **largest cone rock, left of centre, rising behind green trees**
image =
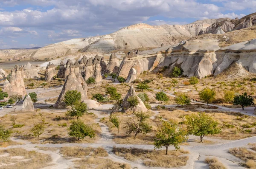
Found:
[[[65,108],[64,96],[69,90],[77,90],[81,93],[81,100],[87,100],[87,85],[83,81],[83,83],[78,81],[76,73],[71,72],[67,76],[67,80],[61,90],[61,94],[58,97],[58,100],[53,105],[55,108]]]

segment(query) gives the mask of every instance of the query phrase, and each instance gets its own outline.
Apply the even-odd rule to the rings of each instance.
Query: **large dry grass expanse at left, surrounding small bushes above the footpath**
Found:
[[[26,113],[26,112],[15,112],[17,113],[16,124],[24,124],[22,128],[13,129],[15,132],[13,136],[16,136],[21,139],[25,139],[27,141],[31,141],[32,143],[67,143],[67,142],[77,142],[77,139],[74,137],[70,137],[68,135],[67,127],[70,126],[71,120],[75,118],[67,119],[64,113],[44,113],[40,111],[40,113]],[[0,117],[0,121],[6,127],[12,127],[12,121],[10,121],[11,115],[5,115]],[[84,138],[79,143],[93,143],[98,140],[99,135],[101,133],[101,128],[99,124],[95,123],[94,119],[97,118],[96,115],[84,115],[80,119],[84,121],[85,124],[92,126],[93,130],[96,131],[95,138]],[[46,130],[42,135],[38,138],[32,136],[30,130],[34,126],[34,124],[38,124],[45,119]],[[67,125],[67,127],[66,127]]]

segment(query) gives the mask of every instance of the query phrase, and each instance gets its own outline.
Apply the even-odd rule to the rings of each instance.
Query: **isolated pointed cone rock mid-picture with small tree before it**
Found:
[[[122,109],[122,112],[129,112],[129,111],[132,111],[131,108],[129,107],[129,103],[128,103],[128,98],[131,97],[131,96],[136,96],[139,100],[139,104],[136,106],[135,108],[135,111],[136,112],[146,112],[148,111],[148,109],[145,107],[143,101],[141,101],[141,99],[137,96],[135,90],[134,90],[134,87],[131,85],[127,95],[125,96],[125,99],[123,101],[123,109]]]

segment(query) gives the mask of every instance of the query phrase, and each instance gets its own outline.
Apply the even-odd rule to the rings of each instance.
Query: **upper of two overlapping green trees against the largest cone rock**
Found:
[[[81,101],[82,96],[80,92],[77,92],[77,90],[69,90],[65,93],[64,98],[66,106],[71,106],[71,109],[73,110],[74,105]]]

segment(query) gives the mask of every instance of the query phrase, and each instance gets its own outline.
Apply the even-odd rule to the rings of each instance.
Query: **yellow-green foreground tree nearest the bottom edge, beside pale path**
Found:
[[[163,121],[162,127],[157,130],[154,147],[160,149],[165,146],[166,155],[168,155],[168,147],[173,145],[176,150],[180,149],[179,145],[188,139],[186,135],[186,130],[177,121]]]

